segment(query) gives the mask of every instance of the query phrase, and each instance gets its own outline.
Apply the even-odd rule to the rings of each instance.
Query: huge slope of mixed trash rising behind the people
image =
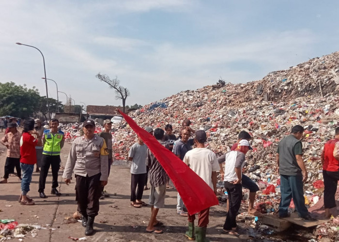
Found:
[[[322,179],[321,151],[339,125],[338,91],[339,52],[335,52],[246,84],[182,91],[130,112],[129,116],[141,127],[164,128],[170,123],[176,136],[181,122],[188,118],[193,129],[206,131],[207,147],[217,155],[229,151],[238,133],[247,130],[253,136],[254,148],[247,154],[247,169],[260,166],[249,175],[254,180],[270,182],[277,181],[275,159],[279,140],[300,124],[306,128],[306,186],[311,186]],[[127,159],[136,135],[125,123],[113,128],[115,158]]]

